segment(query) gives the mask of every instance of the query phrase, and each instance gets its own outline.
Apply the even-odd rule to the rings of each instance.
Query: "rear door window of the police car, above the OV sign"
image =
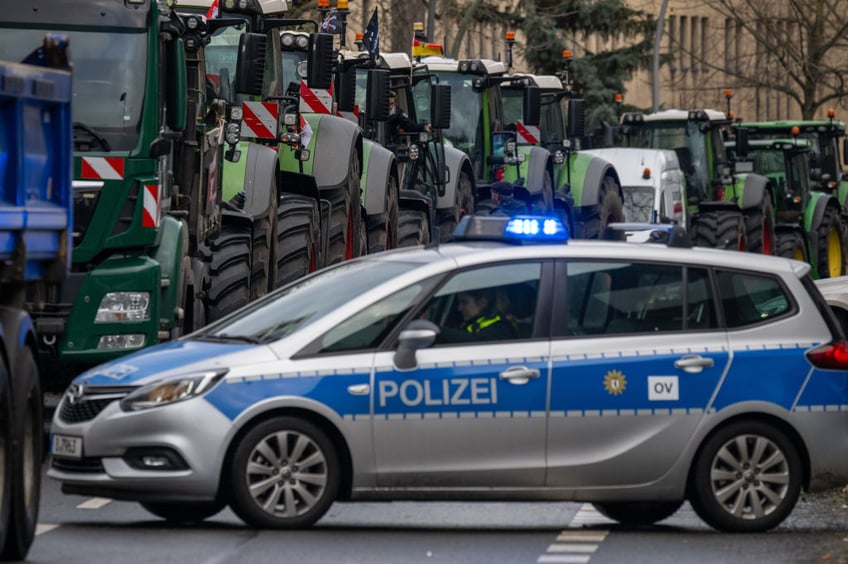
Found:
[[[656,333],[684,327],[680,266],[570,262],[567,272],[569,335]],[[702,273],[700,284],[702,307],[693,313],[699,323],[709,326],[713,316],[706,273]],[[691,299],[699,298],[693,295]]]

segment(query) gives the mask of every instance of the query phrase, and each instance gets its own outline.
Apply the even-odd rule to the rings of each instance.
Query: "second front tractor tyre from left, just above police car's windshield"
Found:
[[[275,288],[317,270],[321,240],[318,201],[314,198],[283,194],[277,214]]]

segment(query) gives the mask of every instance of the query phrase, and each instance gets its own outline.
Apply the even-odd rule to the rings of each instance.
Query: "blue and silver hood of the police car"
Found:
[[[74,379],[86,386],[137,386],[190,371],[273,361],[266,346],[247,343],[172,341],[100,364]]]

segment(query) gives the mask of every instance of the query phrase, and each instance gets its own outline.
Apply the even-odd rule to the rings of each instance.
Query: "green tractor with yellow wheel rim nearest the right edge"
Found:
[[[845,240],[836,198],[811,190],[809,161],[812,144],[797,136],[749,140],[738,125],[736,140],[726,143],[739,168],[768,178],[777,223],[776,253],[809,262],[815,278],[840,276],[845,271]]]

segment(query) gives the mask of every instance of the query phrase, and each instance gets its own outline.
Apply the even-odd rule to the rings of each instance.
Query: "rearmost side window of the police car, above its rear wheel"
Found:
[[[792,309],[786,291],[773,276],[717,270],[716,278],[730,328],[770,321]]]

